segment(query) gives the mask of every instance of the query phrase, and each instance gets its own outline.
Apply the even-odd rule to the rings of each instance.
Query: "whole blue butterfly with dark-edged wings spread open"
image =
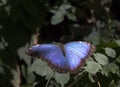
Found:
[[[39,57],[57,71],[75,73],[84,64],[85,59],[93,54],[95,47],[87,42],[74,41],[65,45],[38,44],[28,49],[27,54]]]

